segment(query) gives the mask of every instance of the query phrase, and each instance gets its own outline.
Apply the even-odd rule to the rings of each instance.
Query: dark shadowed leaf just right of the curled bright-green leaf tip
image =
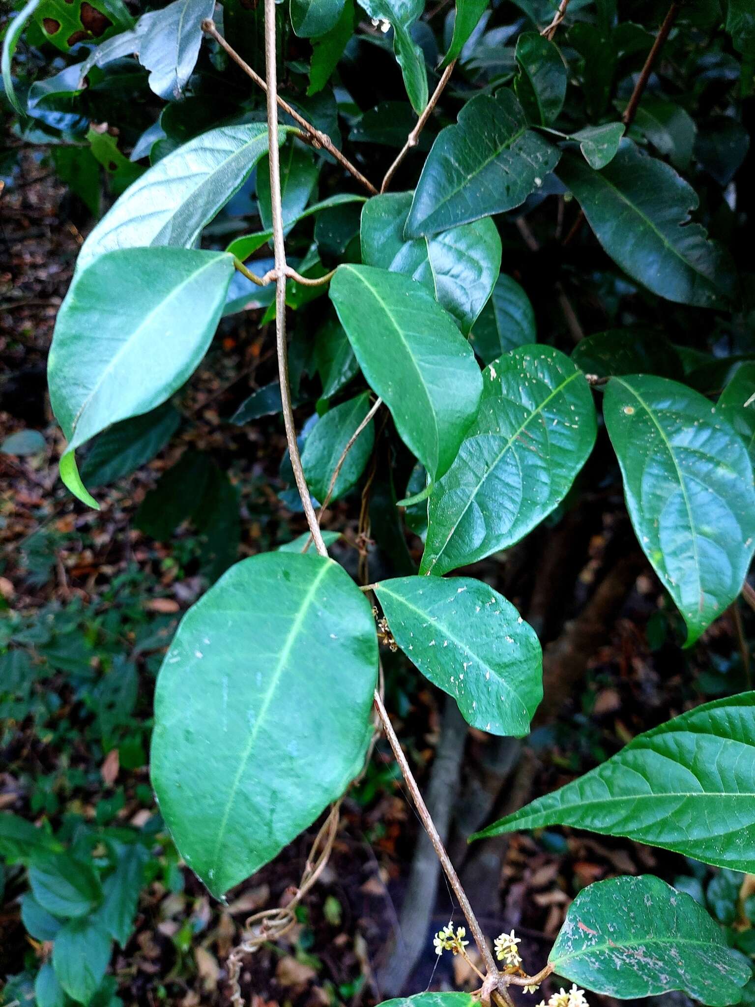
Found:
[[[82,465],[82,479],[94,488],[131,475],[162,451],[180,424],[181,414],[168,402],[114,424],[93,441]]]

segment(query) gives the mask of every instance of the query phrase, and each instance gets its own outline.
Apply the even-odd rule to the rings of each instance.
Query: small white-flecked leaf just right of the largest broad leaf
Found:
[[[471,577],[401,577],[374,593],[396,642],[472,727],[528,733],[543,699],[543,652],[510,602]]]

